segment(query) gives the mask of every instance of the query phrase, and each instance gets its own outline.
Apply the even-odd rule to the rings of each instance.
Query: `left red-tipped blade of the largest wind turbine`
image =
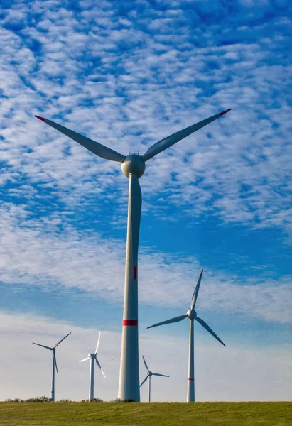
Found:
[[[119,163],[121,163],[121,161],[124,159],[124,155],[121,155],[120,153],[117,153],[116,151],[107,148],[107,146],[104,146],[101,143],[92,141],[92,139],[87,138],[86,136],[82,136],[80,135],[80,133],[76,133],[75,131],[67,129],[67,127],[61,126],[60,124],[57,124],[54,121],[43,119],[43,117],[35,117],[41,121],[44,121],[46,124],[60,131],[69,138],[73,139],[73,141],[80,143],[80,145],[84,146],[89,151],[91,151],[95,155],[98,155],[101,158],[105,158],[106,160],[118,161]]]

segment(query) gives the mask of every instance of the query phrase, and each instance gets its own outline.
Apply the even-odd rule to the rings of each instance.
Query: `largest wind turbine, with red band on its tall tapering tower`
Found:
[[[124,286],[124,315],[123,331],[121,336],[121,365],[119,372],[119,398],[121,400],[140,400],[139,391],[139,349],[138,349],[138,246],[139,229],[141,219],[141,188],[139,178],[145,171],[145,163],[152,157],[166,150],[170,146],[186,138],[191,133],[201,129],[207,124],[219,119],[230,109],[215,114],[202,120],[193,126],[173,133],[171,136],[161,139],[148,148],[144,155],[122,155],[113,151],[101,143],[92,141],[70,129],[67,129],[54,121],[36,116],[54,129],[64,133],[89,151],[105,158],[106,160],[121,163],[121,170],[129,178],[129,204],[128,204],[128,229],[126,234],[126,271]]]

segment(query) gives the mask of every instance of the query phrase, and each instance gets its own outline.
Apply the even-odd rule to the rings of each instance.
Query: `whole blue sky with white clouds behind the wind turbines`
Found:
[[[188,310],[204,268],[198,311],[227,349],[196,329],[198,400],[291,399],[290,2],[1,5],[0,356],[19,347],[29,356],[15,377],[5,361],[0,398],[48,394],[49,378],[38,377],[42,368],[50,373],[47,354],[30,342],[43,334],[58,341],[67,329],[70,368],[85,388],[87,372],[75,361],[104,331],[112,379],[102,397],[117,394],[128,182],[118,163],[34,114],[126,155],[232,108],[146,164],[140,352],[153,370],[177,366],[171,386],[153,387],[153,399],[184,400],[188,325],[146,327]],[[267,359],[277,366],[273,386]],[[223,373],[215,378],[207,360]],[[64,381],[57,399],[85,398],[72,388]]]

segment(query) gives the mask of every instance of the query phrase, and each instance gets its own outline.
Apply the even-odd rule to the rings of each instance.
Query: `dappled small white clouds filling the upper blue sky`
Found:
[[[112,165],[34,123],[33,112],[127,153],[232,107],[149,163],[146,200],[167,191],[186,213],[207,208],[290,232],[288,2],[216,1],[214,14],[200,1],[67,6],[28,1],[2,13],[4,182],[26,180],[21,195],[50,183],[69,204],[113,175],[124,187]]]

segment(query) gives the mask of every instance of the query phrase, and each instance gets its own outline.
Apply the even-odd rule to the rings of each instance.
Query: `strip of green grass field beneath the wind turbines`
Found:
[[[292,403],[0,403],[0,426],[291,426]]]

